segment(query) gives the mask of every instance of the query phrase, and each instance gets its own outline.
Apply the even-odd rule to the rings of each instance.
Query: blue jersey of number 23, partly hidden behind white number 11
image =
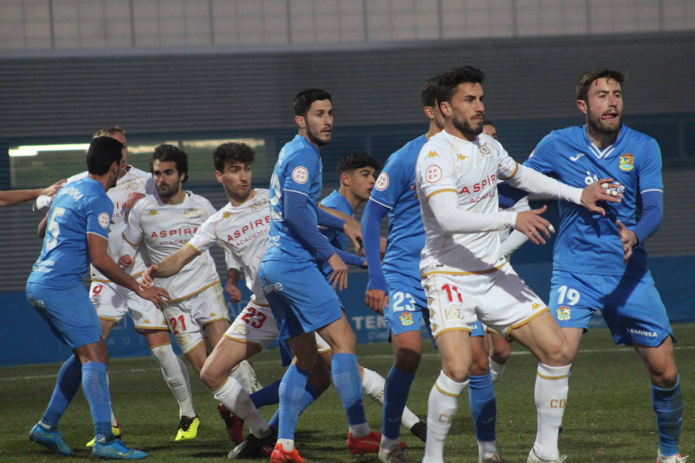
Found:
[[[426,142],[427,137],[421,135],[390,155],[370,194],[370,201],[389,208],[389,237],[382,264],[386,280],[389,273],[420,280],[425,228],[420,202],[410,187],[415,183],[415,164]]]

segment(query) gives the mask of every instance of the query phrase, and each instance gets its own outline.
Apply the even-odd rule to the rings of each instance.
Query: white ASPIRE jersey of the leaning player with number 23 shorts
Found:
[[[268,249],[270,209],[268,190],[254,190],[256,195],[239,206],[227,203],[198,228],[188,246],[198,253],[210,249],[215,242],[222,244],[226,253],[244,269],[246,287],[254,293],[254,301],[268,304],[261,289],[258,274],[263,254]]]

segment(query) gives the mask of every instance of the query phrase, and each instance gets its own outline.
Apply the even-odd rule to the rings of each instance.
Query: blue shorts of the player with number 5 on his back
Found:
[[[26,283],[26,299],[51,331],[70,348],[98,342],[101,324],[87,289]]]

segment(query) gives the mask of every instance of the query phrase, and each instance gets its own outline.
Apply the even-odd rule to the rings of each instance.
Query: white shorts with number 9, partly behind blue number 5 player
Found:
[[[118,323],[130,310],[135,329],[138,332],[169,330],[166,317],[161,310],[158,310],[150,301],[141,298],[121,285],[113,282],[92,281],[89,297],[97,310],[97,315],[102,320]]]

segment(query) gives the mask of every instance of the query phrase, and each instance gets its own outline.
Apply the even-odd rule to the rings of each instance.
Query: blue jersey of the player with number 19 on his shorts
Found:
[[[664,191],[661,150],[656,140],[622,126],[616,141],[597,148],[586,126],[553,131],[539,142],[524,165],[573,187],[586,187],[600,178],[619,182],[620,203],[606,203],[606,216],[581,205],[559,201],[560,226],[553,248],[555,270],[598,275],[639,276],[646,272],[644,243],[632,249],[628,265],[616,220],[634,228],[640,217],[640,194]]]

